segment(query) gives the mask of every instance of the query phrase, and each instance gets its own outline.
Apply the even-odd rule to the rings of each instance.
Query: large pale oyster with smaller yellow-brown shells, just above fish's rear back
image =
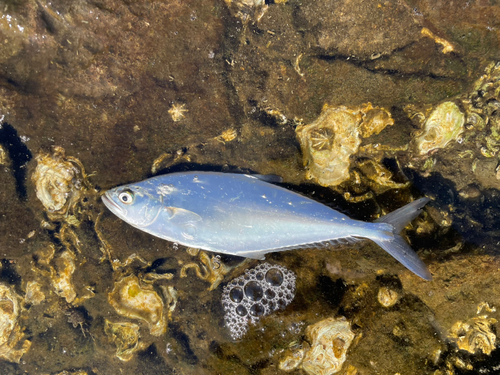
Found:
[[[348,182],[359,186],[357,194],[369,190],[359,197],[344,192],[345,198],[352,201],[370,198],[372,191],[406,187],[407,183],[393,181],[392,173],[381,163],[387,148],[378,144],[360,146],[362,139],[393,124],[389,111],[371,103],[351,108],[325,104],[315,121],[296,128],[306,178],[341,192]]]

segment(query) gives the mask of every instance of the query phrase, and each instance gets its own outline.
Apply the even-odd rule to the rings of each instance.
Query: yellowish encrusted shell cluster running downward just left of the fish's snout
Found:
[[[66,156],[62,147],[54,147],[51,154],[39,154],[36,161],[31,180],[44,208],[46,220],[41,225],[52,230],[60,241],[38,252],[36,271],[51,280],[55,293],[66,302],[79,303],[71,282],[77,255],[81,253],[81,241],[74,229],[79,227],[85,215],[90,216],[85,202],[95,199],[96,191],[87,180],[83,164]]]

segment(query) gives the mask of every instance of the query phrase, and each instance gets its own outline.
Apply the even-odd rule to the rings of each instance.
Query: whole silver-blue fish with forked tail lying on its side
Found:
[[[102,200],[120,219],[153,236],[253,259],[275,251],[369,239],[416,275],[431,280],[425,264],[399,235],[428,198],[367,223],[270,184],[265,177],[172,173],[110,189]]]

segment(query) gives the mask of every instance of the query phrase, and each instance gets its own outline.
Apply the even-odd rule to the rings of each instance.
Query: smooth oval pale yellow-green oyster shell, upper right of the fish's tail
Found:
[[[415,138],[415,148],[420,155],[444,148],[457,140],[464,130],[465,115],[453,102],[438,105],[424,123],[422,132]]]

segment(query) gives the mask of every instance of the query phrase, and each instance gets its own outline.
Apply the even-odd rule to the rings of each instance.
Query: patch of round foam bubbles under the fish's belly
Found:
[[[283,266],[262,263],[224,287],[224,322],[231,337],[240,339],[261,316],[284,309],[295,296],[295,274]]]

